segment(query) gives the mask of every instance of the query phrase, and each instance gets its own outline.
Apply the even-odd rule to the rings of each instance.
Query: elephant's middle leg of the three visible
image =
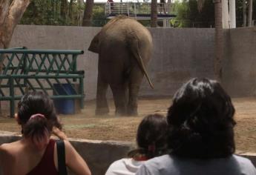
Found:
[[[111,90],[114,96],[114,104],[116,106],[116,116],[127,115],[127,85],[111,85]]]

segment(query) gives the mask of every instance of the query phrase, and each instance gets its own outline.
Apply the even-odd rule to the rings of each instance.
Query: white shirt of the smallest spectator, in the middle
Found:
[[[134,159],[119,159],[113,162],[105,175],[134,175],[145,161],[136,161]]]

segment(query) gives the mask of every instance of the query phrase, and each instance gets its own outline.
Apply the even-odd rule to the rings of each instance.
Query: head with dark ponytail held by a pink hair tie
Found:
[[[18,104],[18,122],[22,134],[34,143],[43,142],[50,137],[53,126],[61,128],[53,101],[43,92],[25,94]]]

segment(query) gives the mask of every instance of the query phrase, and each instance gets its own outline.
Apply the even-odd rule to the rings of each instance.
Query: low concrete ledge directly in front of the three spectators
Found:
[[[54,137],[53,137],[54,138]],[[0,131],[0,145],[15,142],[21,136]],[[88,163],[93,175],[104,175],[108,166],[117,159],[125,157],[133,145],[132,142],[100,141],[88,139],[69,139],[76,151]],[[250,159],[256,167],[256,153],[237,151],[240,156]],[[0,171],[1,175],[1,171]]]

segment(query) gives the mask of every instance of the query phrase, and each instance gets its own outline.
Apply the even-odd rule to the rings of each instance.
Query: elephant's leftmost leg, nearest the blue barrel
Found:
[[[97,94],[96,94],[96,115],[104,115],[109,113],[106,93],[108,90],[108,83],[102,80],[100,73],[98,74]]]

